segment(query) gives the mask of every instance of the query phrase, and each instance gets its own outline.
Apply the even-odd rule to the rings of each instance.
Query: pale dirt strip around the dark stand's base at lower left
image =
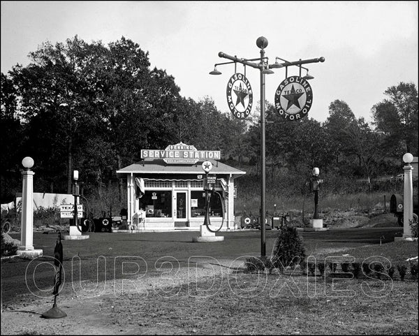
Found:
[[[154,273],[137,280],[116,279],[108,286],[83,282],[84,295],[75,295],[72,290],[64,290],[57,300],[57,307],[67,314],[61,319],[44,319],[41,315],[52,308],[53,299],[23,295],[19,302],[7,305],[1,310],[1,335],[132,335],[141,334],[141,328],[132,330],[130,316],[115,316],[113,305],[128,312],[132,309],[129,301],[122,298],[138,295],[139,300],[152,293],[166,291],[170,286],[189,284],[190,281],[212,282],[214,277],[227,277],[233,272],[232,261],[223,261],[228,267],[198,265],[190,270],[180,268],[175,277],[165,273]],[[237,265],[238,267],[239,265]],[[110,303],[112,302],[112,303]],[[117,318],[117,319],[115,319]],[[170,335],[186,333],[188,330],[167,329],[159,325],[147,327],[148,335]],[[193,332],[192,332],[193,333]]]

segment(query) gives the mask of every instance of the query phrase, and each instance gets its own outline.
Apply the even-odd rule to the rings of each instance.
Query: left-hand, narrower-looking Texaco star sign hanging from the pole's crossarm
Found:
[[[227,104],[238,119],[249,116],[253,103],[253,92],[249,80],[242,73],[235,73],[227,84]]]

